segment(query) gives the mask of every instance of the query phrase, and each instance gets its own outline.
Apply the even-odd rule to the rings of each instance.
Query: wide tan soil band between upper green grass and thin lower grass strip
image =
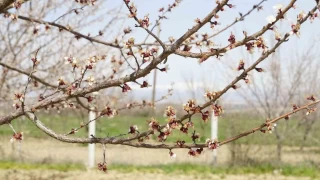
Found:
[[[0,160],[8,158],[18,158],[23,162],[43,162],[61,163],[75,162],[86,163],[88,151],[86,145],[67,144],[57,140],[44,140],[27,138],[21,144],[10,143],[10,138],[0,138]],[[225,145],[218,149],[218,164],[228,163],[230,160],[231,146]],[[20,151],[19,151],[20,149]],[[250,158],[268,159],[275,157],[275,147],[273,146],[250,146]],[[318,151],[318,152],[317,152]],[[19,153],[20,152],[20,153]],[[153,165],[168,163],[200,163],[210,164],[212,153],[205,150],[199,157],[190,157],[188,149],[175,149],[177,158],[169,158],[168,150],[163,149],[139,149],[129,146],[107,145],[108,164],[133,164],[133,165]],[[298,164],[306,161],[320,162],[320,148],[309,147],[300,151],[297,147],[285,147],[282,161],[289,164]],[[96,145],[96,162],[102,160],[102,147]]]

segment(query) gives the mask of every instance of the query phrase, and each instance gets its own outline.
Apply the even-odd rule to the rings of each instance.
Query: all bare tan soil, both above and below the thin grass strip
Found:
[[[26,138],[21,144],[12,144],[9,142],[9,137],[0,138],[0,160],[16,158],[22,162],[43,162],[43,163],[82,163],[86,164],[88,152],[86,145],[67,144],[56,140],[34,139]],[[222,146],[218,150],[218,164],[228,163],[230,160],[231,146]],[[20,149],[20,153],[19,152]],[[274,156],[275,147],[250,147],[252,153],[251,157],[258,157],[260,159],[268,159]],[[112,170],[112,164],[133,164],[133,165],[155,165],[155,164],[169,164],[169,163],[200,163],[210,164],[212,160],[211,151],[205,150],[204,154],[199,157],[190,157],[187,154],[187,149],[177,149],[174,153],[177,154],[176,159],[169,158],[167,150],[162,149],[138,149],[129,146],[107,146],[107,162],[110,170],[107,174],[97,170],[84,171],[69,171],[61,172],[55,170],[0,170],[0,179],[16,179],[16,180],[44,180],[44,179],[139,179],[139,180],[194,180],[194,179],[230,179],[230,180],[247,180],[247,179],[265,179],[265,180],[297,180],[309,179],[301,177],[288,177],[277,174],[264,175],[210,175],[210,174],[192,174],[184,175],[179,173],[164,174],[157,173],[141,173],[131,172],[123,173]],[[102,147],[96,146],[96,162],[102,160]],[[298,164],[305,161],[319,161],[320,153],[318,147],[306,148],[301,152],[298,147],[285,147],[283,153],[283,161],[285,163]]]

